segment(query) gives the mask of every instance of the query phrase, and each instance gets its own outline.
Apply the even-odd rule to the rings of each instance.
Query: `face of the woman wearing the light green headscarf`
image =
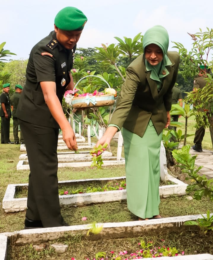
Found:
[[[145,48],[145,58],[152,66],[155,66],[163,60],[163,51],[158,45],[151,43]]]

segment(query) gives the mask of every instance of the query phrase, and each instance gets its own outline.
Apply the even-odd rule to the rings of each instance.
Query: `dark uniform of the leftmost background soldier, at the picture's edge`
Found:
[[[5,118],[4,111],[2,106],[0,108],[0,116],[1,116],[1,144],[10,143],[9,139],[9,126],[10,126],[10,118],[11,118],[11,109],[10,109],[10,100],[9,95],[3,92],[0,96],[0,102],[4,103],[5,108],[7,110],[8,119]]]

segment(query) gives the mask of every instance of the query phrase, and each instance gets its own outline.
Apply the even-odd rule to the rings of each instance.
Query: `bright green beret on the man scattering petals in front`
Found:
[[[75,7],[65,7],[55,16],[55,26],[65,31],[81,31],[87,22],[86,16]]]

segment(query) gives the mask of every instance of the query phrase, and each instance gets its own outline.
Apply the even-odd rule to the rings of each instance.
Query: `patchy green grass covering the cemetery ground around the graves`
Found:
[[[184,122],[181,118],[179,122]],[[193,128],[194,120],[190,118],[188,122],[188,134],[195,133]],[[184,126],[181,128],[184,132]],[[12,133],[12,128],[11,128]],[[13,141],[11,134],[11,141]],[[96,142],[96,138],[92,138],[92,142]],[[193,144],[193,137],[187,138],[187,143]],[[204,142],[202,144],[203,149],[212,150],[211,138],[209,130],[206,129],[204,136]],[[116,155],[117,143],[112,141],[111,143],[112,153]],[[2,201],[7,185],[18,184],[28,182],[28,170],[16,170],[16,165],[19,161],[20,152],[19,145],[1,144],[1,164],[0,164],[0,200]],[[63,152],[63,151],[59,151]],[[122,152],[122,156],[123,152]],[[59,168],[58,180],[72,180],[72,179],[90,179],[90,178],[104,178],[104,177],[121,177],[125,176],[125,166],[107,166],[101,170],[90,167],[82,168]],[[187,200],[186,196],[177,197],[172,196],[170,198],[161,199],[160,214],[163,217],[178,216],[178,215],[194,215],[200,213],[206,213],[207,210],[213,212],[213,204],[207,198],[202,198],[201,201]],[[128,211],[126,201],[117,201],[111,203],[93,204],[81,207],[62,207],[61,209],[64,219],[72,225],[80,225],[96,222],[120,222],[128,220],[136,220],[131,212]],[[86,216],[87,220],[82,221],[82,217]],[[23,229],[23,223],[25,218],[25,211],[15,213],[5,213],[0,209],[0,232],[13,232]],[[144,240],[153,240],[160,246],[159,238],[165,239],[166,244],[169,246],[176,246],[180,250],[184,250],[186,254],[193,253],[213,253],[213,233],[207,233],[208,236],[196,233],[197,231],[190,231],[185,234],[156,234],[155,236],[145,237]],[[195,242],[195,237],[199,236],[200,242]],[[109,239],[90,241],[89,239],[83,239],[81,236],[71,237],[61,242],[69,245],[68,253],[62,256],[56,255],[53,250],[48,248],[44,252],[38,254],[29,246],[11,247],[8,259],[70,259],[75,257],[78,260],[84,259],[82,255],[88,257],[94,257],[94,254],[98,251],[107,250],[124,250],[127,248],[138,247],[137,242],[139,238],[133,239]],[[58,240],[59,242],[60,240]],[[14,249],[14,250],[13,250]],[[83,253],[82,253],[83,252]]]

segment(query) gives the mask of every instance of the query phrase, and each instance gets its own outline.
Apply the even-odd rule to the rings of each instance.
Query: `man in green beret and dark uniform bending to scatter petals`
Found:
[[[77,8],[63,8],[55,17],[54,31],[38,42],[29,56],[16,113],[30,166],[25,229],[68,226],[58,196],[58,132],[61,128],[68,148],[77,150],[62,98],[66,90],[74,89],[70,70],[86,21]]]

